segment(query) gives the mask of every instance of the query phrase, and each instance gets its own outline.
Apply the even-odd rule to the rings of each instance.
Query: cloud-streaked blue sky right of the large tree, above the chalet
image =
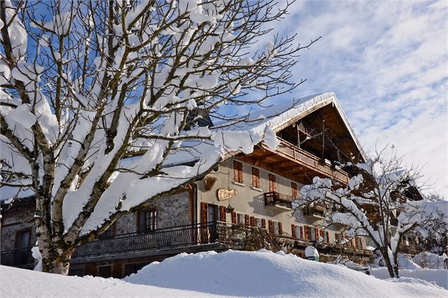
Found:
[[[301,97],[336,93],[366,151],[394,145],[448,197],[448,1],[296,1],[274,24],[303,44]]]

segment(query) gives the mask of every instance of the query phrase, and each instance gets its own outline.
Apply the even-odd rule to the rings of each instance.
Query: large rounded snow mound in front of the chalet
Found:
[[[445,297],[425,280],[392,283],[344,266],[269,251],[179,254],[145,266],[129,283],[231,296]]]

